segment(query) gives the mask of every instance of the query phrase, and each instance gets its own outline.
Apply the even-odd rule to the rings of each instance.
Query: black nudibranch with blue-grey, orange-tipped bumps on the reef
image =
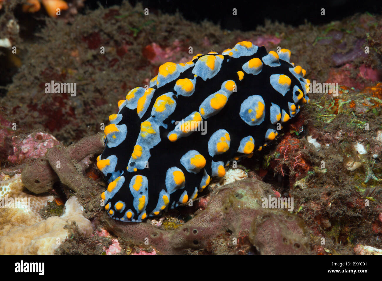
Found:
[[[166,62],[149,85],[129,91],[97,158],[108,214],[125,222],[158,216],[272,141],[309,102],[306,71],[289,60],[290,50],[243,41],[221,55]]]

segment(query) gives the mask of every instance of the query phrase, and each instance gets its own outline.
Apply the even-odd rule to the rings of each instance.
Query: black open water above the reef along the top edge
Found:
[[[87,7],[96,9],[103,6],[119,5],[122,0],[86,1]],[[142,3],[144,7],[173,14],[177,10],[189,21],[200,22],[204,19],[219,23],[223,29],[248,31],[264,24],[265,19],[277,20],[285,24],[298,26],[305,19],[312,24],[325,24],[340,20],[355,13],[381,13],[382,1],[210,1],[210,0],[130,0],[132,5]],[[237,15],[232,16],[232,9]],[[325,8],[325,16],[321,16]]]

